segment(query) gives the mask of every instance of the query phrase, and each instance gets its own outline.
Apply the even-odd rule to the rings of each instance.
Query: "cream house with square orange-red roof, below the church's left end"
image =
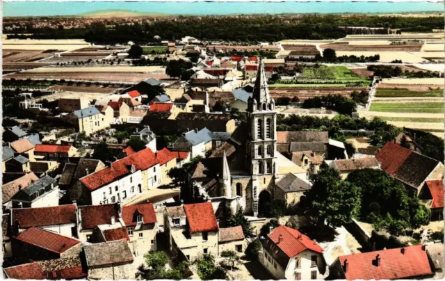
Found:
[[[218,255],[218,222],[211,202],[167,207],[164,231],[168,250],[188,261]]]

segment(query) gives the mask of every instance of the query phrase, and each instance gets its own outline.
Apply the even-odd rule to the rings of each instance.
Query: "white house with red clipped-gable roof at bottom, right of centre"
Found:
[[[323,248],[305,234],[283,225],[263,241],[259,261],[277,279],[316,280],[328,275]]]

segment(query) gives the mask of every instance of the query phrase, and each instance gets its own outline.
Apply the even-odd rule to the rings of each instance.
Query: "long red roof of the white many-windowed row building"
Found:
[[[111,168],[104,168],[98,172],[94,172],[86,177],[81,178],[81,182],[90,189],[95,191],[97,188],[115,182],[120,177],[126,175],[130,171],[127,166],[134,165],[136,170],[147,170],[156,165],[159,161],[149,148],[140,150],[125,158],[115,161],[111,164]]]

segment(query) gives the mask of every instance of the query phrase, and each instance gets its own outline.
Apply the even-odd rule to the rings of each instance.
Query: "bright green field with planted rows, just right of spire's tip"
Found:
[[[366,81],[344,66],[305,67],[303,69],[305,79],[334,79],[347,81]]]

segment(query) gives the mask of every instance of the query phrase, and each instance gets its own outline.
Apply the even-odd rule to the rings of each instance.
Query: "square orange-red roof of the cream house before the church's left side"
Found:
[[[211,202],[186,204],[184,210],[192,233],[218,230]]]

